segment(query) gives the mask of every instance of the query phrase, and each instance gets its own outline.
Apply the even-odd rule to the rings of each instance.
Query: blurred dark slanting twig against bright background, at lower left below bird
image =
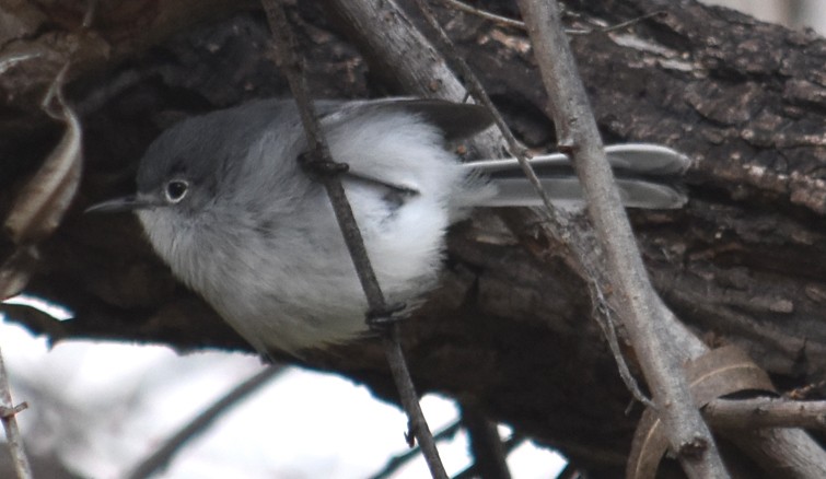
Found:
[[[220,418],[230,408],[235,407],[239,402],[258,390],[261,386],[281,374],[283,371],[283,366],[271,365],[233,387],[229,393],[213,402],[212,406],[181,428],[175,434],[166,440],[159,449],[141,460],[127,477],[129,479],[143,479],[166,468],[175,454],[177,454],[189,441],[209,429],[216,419]]]

